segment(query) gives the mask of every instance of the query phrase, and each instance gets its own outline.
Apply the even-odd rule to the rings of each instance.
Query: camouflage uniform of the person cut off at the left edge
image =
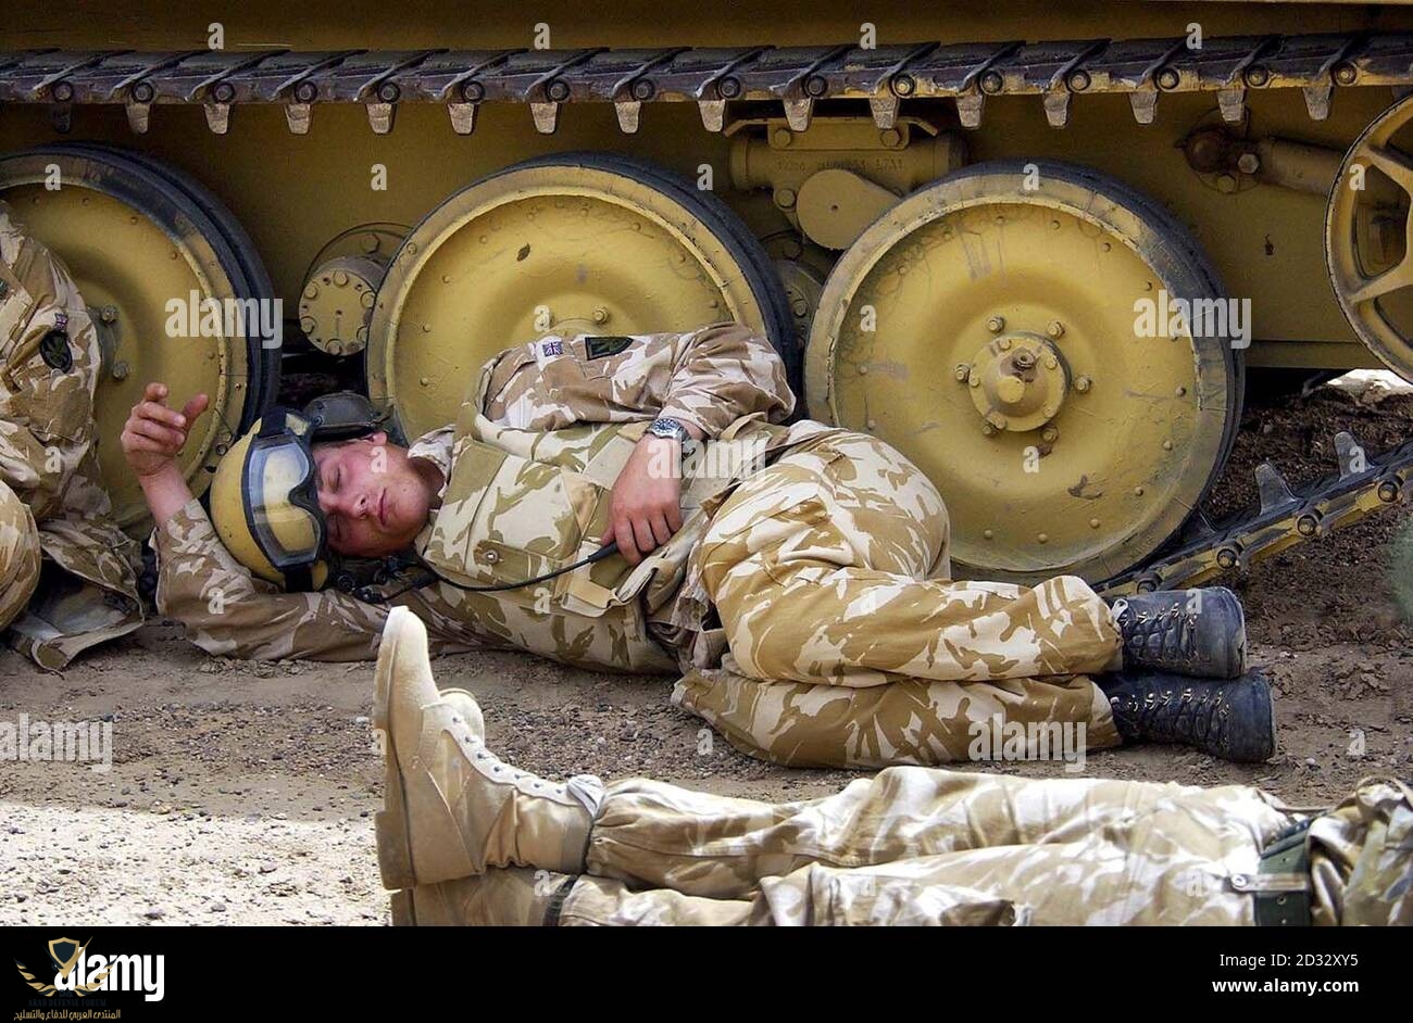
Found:
[[[73,278],[0,202],[0,628],[54,669],[143,621],[137,545],[95,483],[99,363]]]

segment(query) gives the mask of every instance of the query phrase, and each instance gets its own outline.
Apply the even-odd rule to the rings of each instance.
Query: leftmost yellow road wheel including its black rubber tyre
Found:
[[[227,330],[236,319],[226,316],[237,308],[227,301],[268,302],[268,277],[215,196],[141,154],[82,143],[25,150],[0,158],[0,199],[64,260],[93,313],[103,350],[93,408],[102,480],[119,525],[141,535],[147,505],[119,449],[129,411],[148,381],[165,382],[175,402],[211,395],[179,460],[203,492],[216,459],[276,389],[278,344],[249,316],[239,320],[243,333]],[[211,301],[222,303],[219,316]]]

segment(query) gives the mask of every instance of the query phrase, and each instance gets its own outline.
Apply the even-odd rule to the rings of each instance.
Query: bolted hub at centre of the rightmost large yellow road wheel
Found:
[[[972,405],[995,433],[1037,430],[1056,418],[1070,388],[1064,357],[1044,337],[1007,333],[972,357],[966,367]]]

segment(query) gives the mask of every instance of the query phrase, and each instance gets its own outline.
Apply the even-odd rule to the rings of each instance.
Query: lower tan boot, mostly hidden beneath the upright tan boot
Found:
[[[394,927],[552,927],[575,876],[526,866],[418,885],[391,897]]]

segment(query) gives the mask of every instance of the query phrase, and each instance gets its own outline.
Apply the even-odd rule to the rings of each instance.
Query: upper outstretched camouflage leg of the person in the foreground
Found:
[[[608,787],[586,865],[595,876],[715,899],[745,897],[762,878],[811,864],[879,866],[961,854],[989,862],[1013,847],[1071,847],[1074,856],[1077,848],[1098,855],[1118,844],[1122,855],[1152,858],[1177,855],[1183,845],[1215,851],[1219,869],[1222,849],[1245,848],[1252,834],[1275,833],[1287,820],[1245,786],[890,768],[832,796],[767,804],[634,779]],[[983,869],[954,883],[992,890],[976,878],[993,885],[996,876]]]

